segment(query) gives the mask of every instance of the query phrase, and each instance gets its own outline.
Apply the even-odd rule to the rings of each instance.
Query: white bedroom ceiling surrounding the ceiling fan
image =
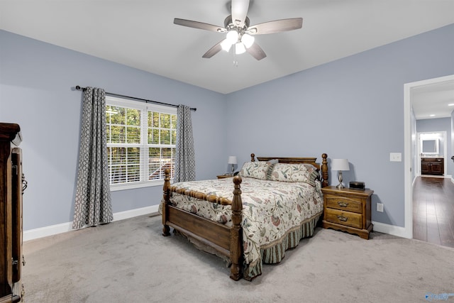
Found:
[[[454,23],[453,0],[255,0],[250,24],[303,18],[297,31],[256,35],[267,57],[201,56],[223,34],[228,0],[1,0],[0,28],[228,94]]]

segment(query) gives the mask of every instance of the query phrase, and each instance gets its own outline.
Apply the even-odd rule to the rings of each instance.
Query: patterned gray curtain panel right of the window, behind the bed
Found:
[[[194,138],[192,137],[191,109],[179,105],[177,110],[177,150],[174,182],[196,180]]]

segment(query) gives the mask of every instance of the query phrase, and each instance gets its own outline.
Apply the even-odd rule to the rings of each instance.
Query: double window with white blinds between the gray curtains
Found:
[[[177,109],[106,96],[111,190],[162,184],[174,175]]]

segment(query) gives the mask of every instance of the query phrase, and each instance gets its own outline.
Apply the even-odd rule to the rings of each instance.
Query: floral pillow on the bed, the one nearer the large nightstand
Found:
[[[319,177],[316,167],[310,164],[276,163],[272,167],[269,180],[282,182],[306,182],[315,186]]]

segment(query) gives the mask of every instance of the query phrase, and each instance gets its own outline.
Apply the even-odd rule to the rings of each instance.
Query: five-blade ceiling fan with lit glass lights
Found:
[[[249,0],[232,0],[231,15],[224,20],[224,27],[180,18],[175,18],[173,23],[179,26],[226,33],[226,38],[210,48],[202,56],[204,58],[211,58],[221,50],[228,52],[232,45],[235,45],[237,55],[248,52],[257,60],[262,60],[267,55],[257,43],[254,43],[254,35],[293,31],[303,26],[303,18],[281,19],[250,26],[249,18],[246,16],[248,9]]]

